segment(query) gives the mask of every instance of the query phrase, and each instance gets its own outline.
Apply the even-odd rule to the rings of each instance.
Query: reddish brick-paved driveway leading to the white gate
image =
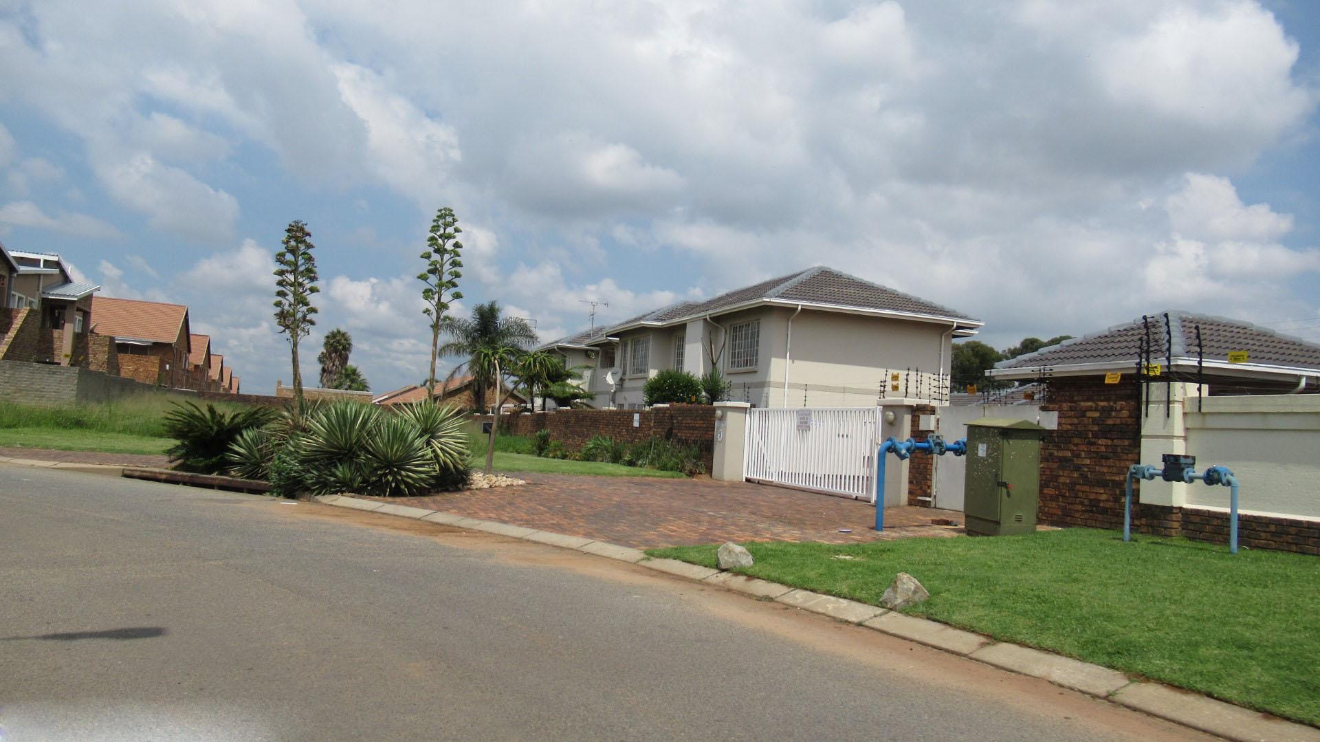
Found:
[[[515,475],[527,485],[389,502],[639,548],[721,541],[847,544],[962,533],[962,528],[931,524],[932,518],[961,524],[961,512],[891,507],[884,511],[884,533],[876,533],[871,529],[875,510],[866,503],[747,482]],[[841,528],[851,532],[841,533]]]

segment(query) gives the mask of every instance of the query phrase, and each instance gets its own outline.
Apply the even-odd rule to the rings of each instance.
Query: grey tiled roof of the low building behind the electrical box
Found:
[[[1245,350],[1247,363],[1320,370],[1320,345],[1280,335],[1274,330],[1209,314],[1168,312],[1168,334],[1164,312],[1148,314],[1143,331],[1140,317],[1114,325],[1105,331],[1064,341],[1036,353],[1001,360],[995,368],[1038,368],[1043,366],[1080,366],[1088,363],[1137,364],[1143,333],[1150,338],[1151,363],[1172,358],[1196,358],[1196,327],[1201,329],[1205,360],[1226,362],[1229,351]],[[1172,341],[1172,353],[1170,342]]]

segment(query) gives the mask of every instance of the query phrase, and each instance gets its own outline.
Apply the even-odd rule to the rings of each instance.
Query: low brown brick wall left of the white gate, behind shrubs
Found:
[[[639,425],[632,426],[638,415]],[[488,421],[490,415],[474,415],[473,420]],[[651,409],[566,409],[556,412],[528,412],[502,415],[500,428],[515,436],[533,436],[549,430],[550,440],[569,450],[579,450],[591,436],[609,436],[616,441],[635,444],[652,436],[694,444],[701,452],[706,471],[714,466],[715,408],[705,404],[676,404]]]

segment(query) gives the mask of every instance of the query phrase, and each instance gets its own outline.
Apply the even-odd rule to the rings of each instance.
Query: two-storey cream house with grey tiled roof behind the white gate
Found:
[[[948,404],[953,338],[983,322],[814,267],[682,301],[541,346],[587,366],[595,407],[642,408],[664,368],[718,368],[729,399],[754,407],[867,407],[882,397]]]

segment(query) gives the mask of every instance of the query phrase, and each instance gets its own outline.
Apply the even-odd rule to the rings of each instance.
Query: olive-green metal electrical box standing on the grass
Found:
[[[968,533],[1006,536],[1036,529],[1040,434],[1027,420],[982,417],[968,422]]]

